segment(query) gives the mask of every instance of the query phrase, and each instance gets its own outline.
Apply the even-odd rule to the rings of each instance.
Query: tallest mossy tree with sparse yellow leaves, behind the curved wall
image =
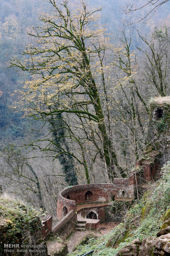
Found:
[[[76,143],[79,151],[63,149],[57,137],[49,140],[44,150],[51,150],[51,145],[55,145],[60,156],[64,150],[64,155],[76,159],[85,168],[87,183],[90,182],[87,154],[91,150],[92,161],[99,156],[105,175],[113,180],[122,169],[110,136],[110,109],[103,71],[108,45],[102,29],[90,28],[101,9],[90,11],[82,2],[72,12],[67,1],[60,7],[55,0],[49,2],[54,13],[41,16],[44,25],[34,28],[30,34],[36,45],[23,53],[28,59],[11,60],[11,66],[32,75],[21,91],[20,103],[25,106],[25,99],[29,102],[26,112],[31,110],[35,119],[51,122],[62,114],[63,120],[70,123],[63,136],[70,145]]]

